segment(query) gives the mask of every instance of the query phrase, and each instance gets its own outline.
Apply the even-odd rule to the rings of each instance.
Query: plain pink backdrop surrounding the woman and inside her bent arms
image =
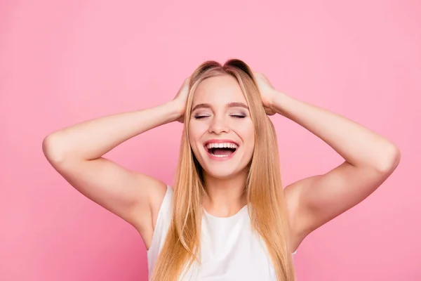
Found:
[[[0,280],[146,280],[140,235],[61,178],[41,142],[164,103],[203,60],[227,58],[401,148],[379,190],[301,244],[299,280],[421,280],[420,1],[0,5]],[[285,184],[342,161],[297,124],[272,119]],[[172,184],[181,129],[161,126],[107,157]]]

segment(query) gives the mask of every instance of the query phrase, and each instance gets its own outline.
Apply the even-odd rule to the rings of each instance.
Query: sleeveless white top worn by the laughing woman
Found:
[[[147,251],[149,280],[170,226],[172,197],[173,189],[167,186],[156,218],[152,243]],[[247,205],[228,218],[218,218],[204,211],[201,223],[201,261],[201,266],[193,263],[187,271],[183,270],[179,281],[276,281],[265,242],[251,231]]]

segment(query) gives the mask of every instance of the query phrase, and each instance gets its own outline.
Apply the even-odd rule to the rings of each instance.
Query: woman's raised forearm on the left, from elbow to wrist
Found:
[[[46,157],[97,159],[117,145],[156,126],[180,117],[178,107],[170,102],[156,107],[123,112],[74,124],[48,135],[43,142]]]

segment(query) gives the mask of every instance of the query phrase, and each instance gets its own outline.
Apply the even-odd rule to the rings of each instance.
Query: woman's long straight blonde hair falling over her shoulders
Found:
[[[172,218],[163,248],[152,273],[153,281],[172,281],[194,261],[200,263],[200,232],[206,187],[202,169],[189,144],[189,119],[194,91],[206,78],[232,75],[247,100],[255,129],[255,146],[248,164],[245,192],[253,231],[267,245],[278,280],[295,280],[289,247],[289,223],[281,185],[276,132],[267,117],[253,72],[242,60],[227,60],[220,65],[208,60],[193,72],[189,84],[180,159],[173,192]]]

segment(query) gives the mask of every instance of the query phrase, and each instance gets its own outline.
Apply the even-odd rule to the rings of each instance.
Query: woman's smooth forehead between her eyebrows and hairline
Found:
[[[226,105],[236,102],[246,103],[246,98],[244,98],[239,82],[231,75],[204,79],[197,87],[193,97],[193,106],[199,103]]]

